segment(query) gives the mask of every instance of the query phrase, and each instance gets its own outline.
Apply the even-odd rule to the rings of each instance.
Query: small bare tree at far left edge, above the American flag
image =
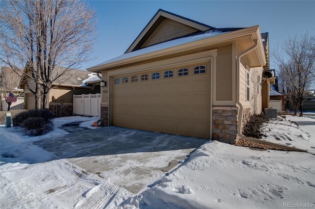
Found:
[[[0,95],[5,98],[8,104],[7,111],[10,110],[12,102],[8,100],[10,93],[15,97],[20,97],[24,94],[23,89],[19,89],[20,75],[17,75],[11,68],[1,67],[0,72]]]

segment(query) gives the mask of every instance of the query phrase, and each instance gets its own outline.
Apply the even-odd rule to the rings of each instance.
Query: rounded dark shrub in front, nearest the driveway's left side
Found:
[[[22,122],[21,126],[27,135],[34,136],[48,133],[54,129],[54,123],[43,117],[29,117]]]

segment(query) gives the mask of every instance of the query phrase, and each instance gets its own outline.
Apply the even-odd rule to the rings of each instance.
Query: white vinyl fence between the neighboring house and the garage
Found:
[[[100,94],[74,94],[73,114],[100,116]]]

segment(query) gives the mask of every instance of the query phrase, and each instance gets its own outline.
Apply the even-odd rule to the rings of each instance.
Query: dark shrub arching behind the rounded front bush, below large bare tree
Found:
[[[48,123],[50,119],[55,118],[55,114],[49,109],[30,109],[14,116],[12,118],[13,126],[21,126],[30,117],[41,117]]]

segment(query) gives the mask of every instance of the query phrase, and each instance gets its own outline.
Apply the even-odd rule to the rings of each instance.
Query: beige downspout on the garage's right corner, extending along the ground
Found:
[[[257,48],[257,46],[258,46],[258,40],[255,39],[254,40],[254,45],[252,45],[252,47],[250,47],[247,50],[239,53],[236,56],[236,103],[240,106],[240,112],[239,112],[239,115],[238,115],[238,124],[237,124],[237,136],[240,137],[240,138],[246,139],[248,141],[257,142],[257,143],[261,143],[261,144],[266,144],[266,145],[274,146],[274,147],[279,147],[279,148],[290,150],[290,151],[307,152],[306,150],[293,148],[293,147],[288,147],[288,146],[281,145],[281,144],[276,144],[276,143],[272,143],[272,142],[267,142],[267,141],[263,141],[263,140],[259,140],[259,139],[255,139],[255,138],[251,138],[251,137],[247,137],[247,136],[243,135],[243,133],[241,133],[241,131],[242,131],[242,122],[243,122],[244,105],[240,102],[240,63],[241,63],[241,58],[244,55],[246,55],[247,53],[252,52],[254,49]]]

